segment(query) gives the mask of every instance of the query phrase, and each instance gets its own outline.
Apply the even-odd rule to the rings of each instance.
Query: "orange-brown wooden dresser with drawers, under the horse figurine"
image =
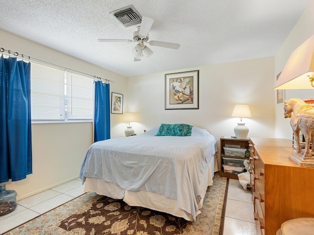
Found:
[[[281,224],[314,217],[314,168],[288,159],[292,141],[250,139],[251,190],[259,235],[275,235]]]

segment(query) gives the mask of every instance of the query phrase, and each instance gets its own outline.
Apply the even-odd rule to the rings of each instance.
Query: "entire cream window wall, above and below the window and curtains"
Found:
[[[54,65],[113,80],[110,92],[126,93],[126,78],[0,30],[0,47]],[[88,53],[88,52],[86,52]],[[110,93],[111,98],[111,93]],[[122,115],[111,114],[111,137],[123,136]],[[92,122],[32,124],[33,173],[26,179],[5,182],[18,200],[55,187],[79,175],[87,148],[93,142]],[[18,146],[17,146],[18,147]]]

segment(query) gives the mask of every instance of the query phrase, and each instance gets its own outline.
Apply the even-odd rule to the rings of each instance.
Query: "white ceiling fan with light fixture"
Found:
[[[141,25],[137,26],[135,28],[135,31],[133,32],[133,40],[131,39],[97,39],[98,42],[127,42],[127,43],[137,43],[136,46],[133,48],[133,54],[134,54],[134,61],[140,61],[142,57],[145,55],[147,57],[150,57],[153,54],[153,51],[145,46],[144,43],[148,43],[151,46],[156,47],[166,47],[171,49],[178,49],[180,47],[180,44],[178,43],[167,43],[167,42],[161,42],[161,41],[148,41],[148,32],[151,29],[152,25],[154,23],[154,20],[152,18],[143,16]]]

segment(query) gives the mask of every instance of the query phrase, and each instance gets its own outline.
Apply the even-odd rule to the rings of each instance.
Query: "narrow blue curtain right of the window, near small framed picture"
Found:
[[[94,142],[110,139],[110,95],[109,84],[95,83]]]

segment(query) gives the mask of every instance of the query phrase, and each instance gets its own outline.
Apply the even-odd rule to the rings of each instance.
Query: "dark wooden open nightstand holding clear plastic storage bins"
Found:
[[[220,176],[238,179],[245,171],[244,160],[249,160],[250,139],[220,138]]]

